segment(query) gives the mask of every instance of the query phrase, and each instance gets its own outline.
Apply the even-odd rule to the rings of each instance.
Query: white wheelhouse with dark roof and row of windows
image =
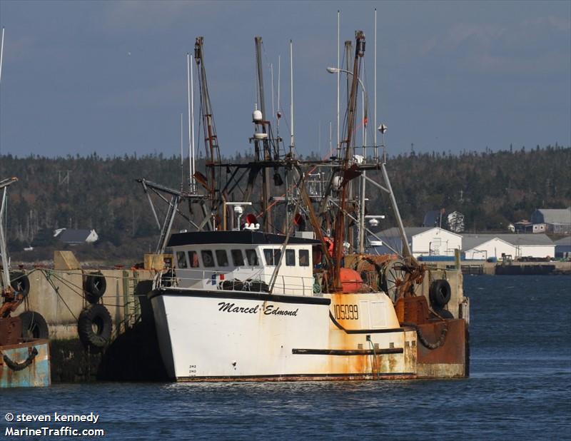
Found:
[[[236,230],[174,233],[173,250],[179,288],[251,290],[313,295],[313,253],[318,240],[261,231]],[[317,249],[319,252],[319,250]],[[282,256],[283,254],[283,256]]]

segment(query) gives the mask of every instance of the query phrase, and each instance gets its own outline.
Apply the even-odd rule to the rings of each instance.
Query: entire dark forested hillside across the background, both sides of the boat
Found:
[[[228,158],[244,161],[246,158]],[[226,161],[226,160],[225,160]],[[204,163],[198,161],[198,169]],[[547,146],[485,153],[423,153],[389,158],[405,225],[418,226],[428,210],[460,211],[467,230],[502,230],[535,208],[571,206],[571,148]],[[375,173],[368,176],[375,178]],[[94,228],[101,242],[120,247],[156,238],[157,226],[137,178],[181,186],[180,158],[161,154],[17,158],[0,156],[0,178],[16,176],[8,205],[11,249],[53,243],[56,228]],[[376,179],[380,181],[380,175]],[[388,214],[378,191],[369,213]]]

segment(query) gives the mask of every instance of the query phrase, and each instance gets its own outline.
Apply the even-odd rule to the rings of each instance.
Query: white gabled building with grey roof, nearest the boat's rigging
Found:
[[[450,255],[456,249],[462,249],[462,235],[438,227],[405,228],[408,245],[415,257],[421,255]],[[383,243],[375,246],[378,253],[392,253],[393,250],[402,253],[403,244],[400,240],[398,228],[389,228],[378,233]],[[377,243],[375,243],[376,245]]]

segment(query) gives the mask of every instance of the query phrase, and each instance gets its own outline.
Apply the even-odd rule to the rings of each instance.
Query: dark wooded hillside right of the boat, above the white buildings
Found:
[[[388,161],[405,225],[428,210],[459,211],[467,231],[505,230],[537,208],[571,206],[571,148],[510,148],[484,153],[423,153]],[[373,198],[373,209],[381,198]]]

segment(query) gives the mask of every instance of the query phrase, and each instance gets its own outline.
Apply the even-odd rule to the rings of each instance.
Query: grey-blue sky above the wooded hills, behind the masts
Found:
[[[293,39],[296,146],[324,155],[329,121],[335,143],[336,81],[325,68],[337,61],[338,9],[341,41],[355,29],[367,39],[372,139],[375,7],[378,123],[389,128],[389,153],[411,143],[420,152],[571,145],[570,1],[0,0],[1,153],[178,154],[196,36],[205,39],[221,152],[249,152],[261,35],[267,91],[270,64],[277,89],[281,56],[281,134]]]

